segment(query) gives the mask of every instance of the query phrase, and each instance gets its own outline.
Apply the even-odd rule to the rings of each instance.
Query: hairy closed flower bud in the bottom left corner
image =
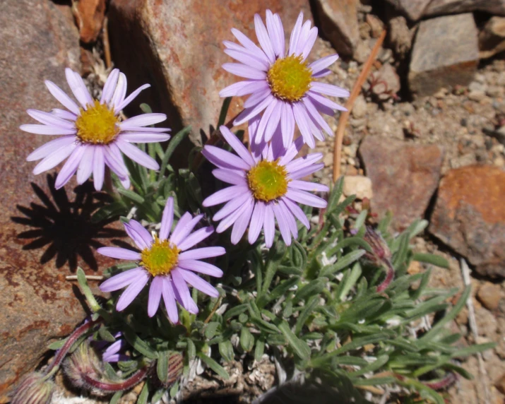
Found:
[[[11,404],[49,404],[54,391],[54,383],[40,372],[32,372],[23,377],[14,390]]]

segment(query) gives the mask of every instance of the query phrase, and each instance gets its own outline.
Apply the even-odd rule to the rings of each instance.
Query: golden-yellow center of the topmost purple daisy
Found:
[[[268,85],[275,97],[290,102],[298,101],[310,88],[312,71],[302,56],[277,59],[267,73]]]

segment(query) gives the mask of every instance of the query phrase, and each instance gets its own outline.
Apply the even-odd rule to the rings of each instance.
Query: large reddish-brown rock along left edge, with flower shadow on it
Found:
[[[72,221],[84,218],[86,203],[71,194],[69,201],[64,190],[52,195],[46,176],[32,175],[34,163],[26,156],[52,136],[18,129],[32,123],[25,109],[60,107],[44,79],[69,90],[64,67],[78,68],[79,57],[69,6],[2,1],[0,37],[0,403],[6,403],[12,385],[35,368],[47,344],[83,320],[75,286],[65,280],[68,263],[85,271],[100,267],[85,242],[105,234]]]

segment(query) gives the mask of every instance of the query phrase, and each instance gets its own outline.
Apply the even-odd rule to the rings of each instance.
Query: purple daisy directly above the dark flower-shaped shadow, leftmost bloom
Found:
[[[40,160],[33,174],[51,170],[66,160],[56,179],[56,189],[61,188],[77,172],[78,184],[83,184],[93,173],[95,189],[100,191],[104,181],[105,165],[121,179],[125,188],[130,186],[129,172],[121,153],[151,170],[160,166],[153,158],[131,143],[167,141],[167,128],[150,128],[148,125],[165,121],[165,114],[142,114],[121,121],[119,112],[145,88],[144,84],[126,96],[126,76],[114,69],[107,78],[100,100],[93,100],[83,79],[75,71],[66,69],[66,81],[80,106],[73,102],[61,88],[51,81],[45,84],[49,93],[61,102],[64,109],[52,112],[28,109],[28,114],[42,125],[21,125],[20,129],[40,135],[62,135],[49,141],[28,155],[26,160]]]

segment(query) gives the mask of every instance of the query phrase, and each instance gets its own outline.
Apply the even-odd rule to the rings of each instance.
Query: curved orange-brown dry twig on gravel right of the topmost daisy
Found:
[[[363,87],[364,81],[367,80],[370,69],[372,69],[372,64],[377,57],[377,53],[379,49],[381,49],[382,42],[384,42],[384,38],[386,37],[386,30],[382,31],[381,36],[375,42],[374,49],[370,53],[367,62],[363,65],[363,69],[360,73],[360,76],[357,78],[357,81],[352,88],[349,99],[345,103],[345,107],[347,111],[342,112],[340,114],[340,119],[338,120],[338,128],[337,133],[335,135],[335,147],[333,148],[333,182],[335,182],[338,177],[340,177],[340,161],[342,160],[342,141],[344,138],[345,132],[345,124],[347,124],[347,119],[349,119],[349,114],[352,109],[352,105],[356,100],[356,97],[361,93],[361,88]]]

